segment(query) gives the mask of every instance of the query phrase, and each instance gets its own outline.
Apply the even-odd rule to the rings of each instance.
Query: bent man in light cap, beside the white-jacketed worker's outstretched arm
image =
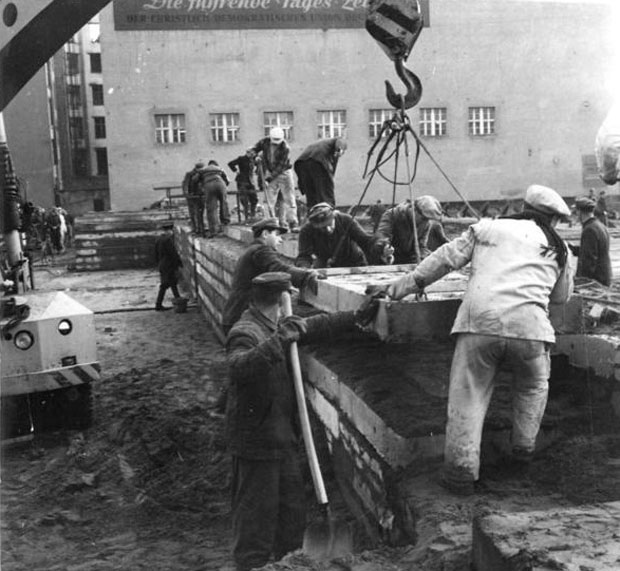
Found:
[[[410,201],[397,204],[386,210],[379,221],[377,233],[394,248],[396,264],[417,263],[448,241],[441,224],[443,210],[439,200],[424,195],[416,198],[414,205],[412,213]]]

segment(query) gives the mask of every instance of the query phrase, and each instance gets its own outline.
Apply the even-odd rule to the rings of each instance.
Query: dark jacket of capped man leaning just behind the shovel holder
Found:
[[[292,284],[299,288],[310,275],[308,270],[283,262],[276,250],[257,238],[241,254],[233,274],[232,287],[222,316],[222,329],[227,333],[248,308],[252,280],[265,272],[286,272]]]

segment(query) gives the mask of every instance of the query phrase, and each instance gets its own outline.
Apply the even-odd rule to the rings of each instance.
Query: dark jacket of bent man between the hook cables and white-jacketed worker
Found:
[[[416,230],[421,258],[425,258],[430,252],[448,241],[443,226],[435,220],[422,219],[416,224]],[[394,248],[394,263],[417,262],[413,239],[413,219],[408,204],[400,204],[386,210],[379,221],[377,233],[389,240]]]

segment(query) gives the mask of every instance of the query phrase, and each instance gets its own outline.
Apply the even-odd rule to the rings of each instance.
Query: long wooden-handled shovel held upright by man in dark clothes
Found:
[[[288,292],[282,293],[282,306],[284,315],[288,316],[293,314],[291,295]],[[316,560],[343,557],[353,551],[351,528],[346,522],[337,521],[331,513],[327,492],[325,491],[325,482],[323,481],[319,459],[316,454],[316,448],[314,447],[312,429],[310,428],[310,418],[308,417],[308,408],[306,406],[306,396],[301,377],[301,365],[299,364],[297,343],[291,343],[290,356],[301,432],[306,447],[308,463],[310,465],[310,473],[312,474],[314,491],[321,513],[320,520],[311,523],[306,528],[302,550],[308,557]]]

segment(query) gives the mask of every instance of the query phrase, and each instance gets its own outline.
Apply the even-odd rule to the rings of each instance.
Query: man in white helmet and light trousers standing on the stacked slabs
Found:
[[[290,149],[284,140],[284,131],[280,127],[273,127],[269,131],[269,137],[258,141],[252,150],[257,155],[260,154],[260,176],[265,185],[269,217],[278,217],[280,226],[291,232],[299,232]],[[282,208],[279,213],[276,212],[278,194],[282,195]]]

